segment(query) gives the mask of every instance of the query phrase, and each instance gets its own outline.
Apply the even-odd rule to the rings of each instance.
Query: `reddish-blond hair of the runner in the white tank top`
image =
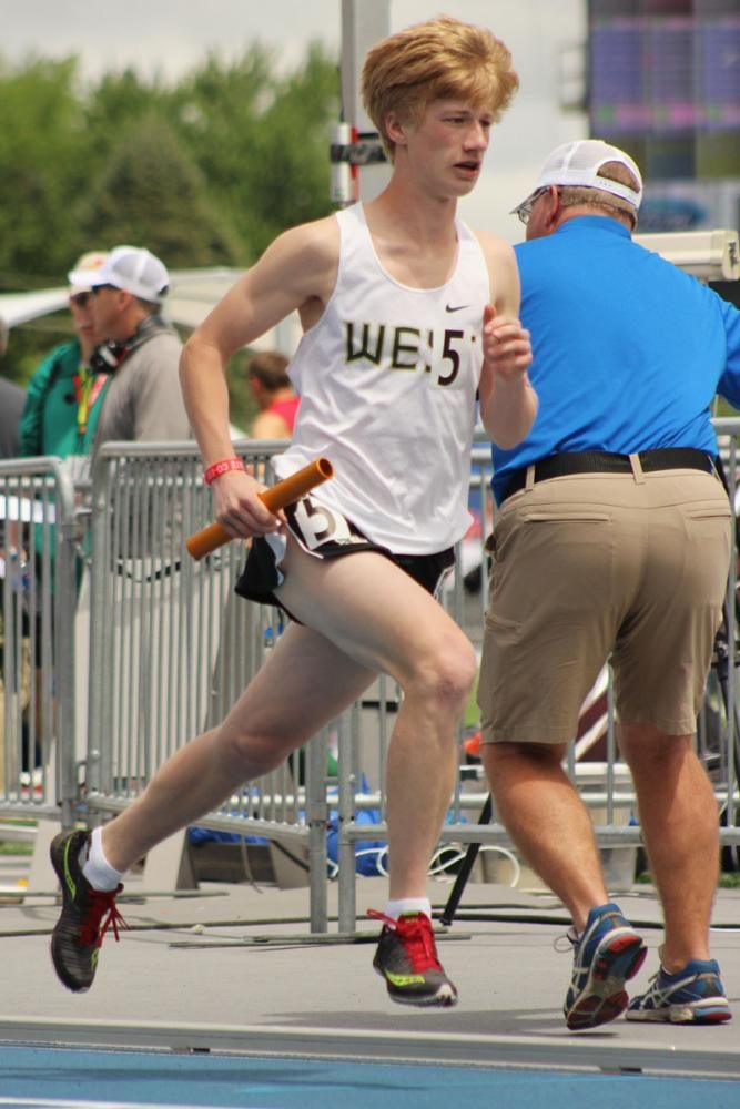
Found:
[[[393,161],[385,121],[416,120],[433,100],[465,100],[498,120],[519,88],[508,48],[490,31],[439,16],[407,27],[367,52],[363,103]]]

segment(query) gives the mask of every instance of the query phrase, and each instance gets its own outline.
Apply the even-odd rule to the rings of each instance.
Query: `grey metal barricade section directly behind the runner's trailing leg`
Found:
[[[275,447],[235,444],[272,484]],[[282,630],[272,607],[234,594],[244,546],[201,561],[185,539],[210,522],[194,444],[107,444],[97,460],[90,562],[84,806],[120,812],[178,749],[219,723]],[[83,588],[81,604],[87,602]],[[234,793],[205,830],[287,844],[311,861],[312,924],[325,927],[325,736]],[[315,783],[315,784],[314,784]]]

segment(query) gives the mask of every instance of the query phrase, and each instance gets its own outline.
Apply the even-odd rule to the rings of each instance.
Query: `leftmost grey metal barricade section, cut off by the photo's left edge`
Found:
[[[78,535],[71,464],[0,462],[0,813],[72,818]]]

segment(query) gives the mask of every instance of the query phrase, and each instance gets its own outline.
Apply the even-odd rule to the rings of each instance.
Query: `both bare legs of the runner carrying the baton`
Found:
[[[475,675],[466,637],[388,559],[305,554],[292,541],[281,599],[298,620],[224,722],[200,735],[103,830],[125,871],[179,828],[283,760],[352,704],[379,672],[404,690],[387,763],[389,896],[426,894],[455,775],[456,723]]]

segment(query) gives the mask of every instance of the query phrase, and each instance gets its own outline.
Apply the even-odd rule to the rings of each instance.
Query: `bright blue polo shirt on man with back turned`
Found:
[[[740,407],[740,312],[606,216],[515,252],[539,411],[518,447],[493,448],[497,502],[513,470],[561,451],[716,455],[714,395]]]

